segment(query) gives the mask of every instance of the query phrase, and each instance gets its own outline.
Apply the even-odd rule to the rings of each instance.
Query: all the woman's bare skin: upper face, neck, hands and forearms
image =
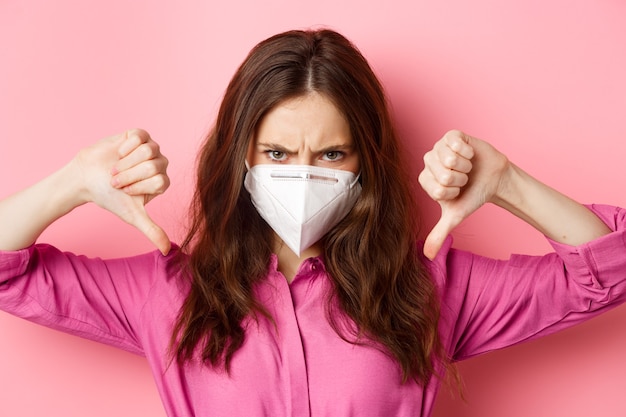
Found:
[[[317,94],[270,111],[247,159],[251,166],[297,163],[359,171],[346,121]],[[135,226],[166,254],[170,241],[144,207],[169,186],[166,168],[167,159],[143,130],[105,138],[37,184],[0,201],[0,250],[28,247],[56,219],[93,202]],[[587,208],[531,177],[487,142],[460,131],[448,132],[425,154],[419,181],[441,206],[441,218],[425,242],[424,253],[431,259],[445,237],[485,203],[573,246],[610,232]],[[275,243],[279,267],[288,279],[303,258],[321,253],[316,245],[297,258],[279,239]]]

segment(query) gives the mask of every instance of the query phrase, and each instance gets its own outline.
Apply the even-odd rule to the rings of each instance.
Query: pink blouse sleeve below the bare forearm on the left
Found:
[[[102,260],[49,245],[0,251],[0,309],[143,354],[141,311],[171,256]]]

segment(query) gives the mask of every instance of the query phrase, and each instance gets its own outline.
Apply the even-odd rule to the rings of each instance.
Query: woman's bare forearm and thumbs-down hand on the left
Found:
[[[94,202],[138,228],[166,254],[170,241],[144,204],[169,186],[167,159],[143,130],[105,138],[37,184],[0,201],[0,250],[33,244],[55,220]]]

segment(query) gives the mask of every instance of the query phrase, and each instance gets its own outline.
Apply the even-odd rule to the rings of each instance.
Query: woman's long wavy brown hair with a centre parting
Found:
[[[327,29],[261,42],[228,85],[198,159],[182,245],[191,290],[174,326],[173,355],[183,363],[200,354],[206,364],[228,370],[244,342],[242,321],[269,317],[254,287],[267,274],[273,234],[243,187],[244,161],[263,116],[312,91],[343,112],[361,165],[358,201],[322,239],[334,287],[327,317],[346,341],[395,358],[403,381],[427,383],[445,358],[437,290],[416,248],[413,181],[380,82],[357,48]]]

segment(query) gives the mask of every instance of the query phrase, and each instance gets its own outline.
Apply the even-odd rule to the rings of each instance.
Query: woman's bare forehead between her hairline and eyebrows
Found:
[[[312,92],[273,107],[259,123],[256,141],[294,146],[302,142],[351,144],[352,136],[346,118],[335,104]]]

